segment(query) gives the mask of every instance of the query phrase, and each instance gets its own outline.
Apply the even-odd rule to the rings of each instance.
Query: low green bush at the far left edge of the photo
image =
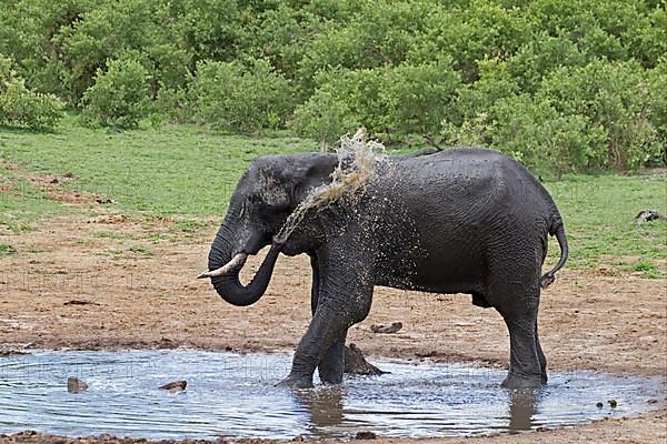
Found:
[[[62,102],[53,94],[26,88],[11,61],[0,54],[0,124],[31,129],[52,129],[62,118]]]

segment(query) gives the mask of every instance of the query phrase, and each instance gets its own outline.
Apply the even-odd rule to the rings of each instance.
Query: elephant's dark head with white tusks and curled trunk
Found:
[[[337,164],[336,155],[293,154],[257,159],[241,176],[229,202],[225,221],[209,252],[209,272],[216,291],[233,305],[250,305],[267,290],[273,265],[281,250],[300,252],[299,239],[285,244],[273,242],[289,214],[308,192],[329,179]],[[252,281],[239,281],[248,255],[266,245],[271,249]]]

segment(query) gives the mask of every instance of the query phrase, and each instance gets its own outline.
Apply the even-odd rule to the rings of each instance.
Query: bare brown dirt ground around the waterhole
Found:
[[[208,281],[195,279],[206,269],[218,221],[193,234],[175,230],[170,219],[99,212],[79,211],[1,238],[17,253],[0,258],[0,349],[293,350],[310,317],[305,258],[282,256],[263,299],[235,307]],[[249,261],[246,275],[259,263],[260,258]],[[539,330],[549,370],[666,376],[665,280],[607,274],[565,270],[542,293]],[[404,324],[396,334],[370,331],[371,324],[395,321]],[[504,367],[509,351],[500,316],[474,306],[470,296],[385,287],[376,289],[369,317],[350,330],[349,341],[371,361],[382,356]],[[665,443],[667,408],[664,397],[658,401],[657,411],[640,417],[521,435],[420,441]],[[0,443],[70,441],[92,442],[31,433],[0,436]]]

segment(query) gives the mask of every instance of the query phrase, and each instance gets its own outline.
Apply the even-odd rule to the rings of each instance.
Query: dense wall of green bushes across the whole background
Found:
[[[4,0],[0,53],[27,114],[56,94],[94,124],[287,129],[323,145],[365,125],[557,178],[667,159],[655,0]],[[0,120],[57,120],[19,114]]]

